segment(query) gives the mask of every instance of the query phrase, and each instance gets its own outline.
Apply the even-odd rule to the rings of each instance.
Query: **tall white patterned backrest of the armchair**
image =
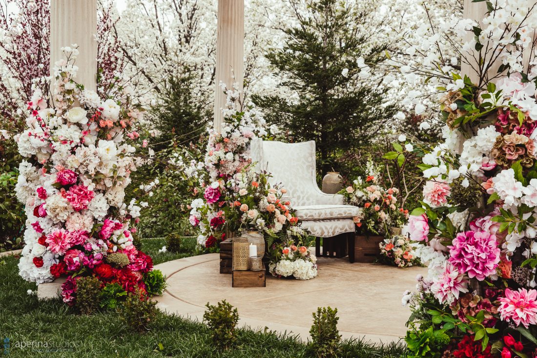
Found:
[[[311,204],[319,191],[315,179],[315,141],[284,143],[251,141],[252,161],[256,170],[272,174],[271,184],[282,183],[293,206]]]

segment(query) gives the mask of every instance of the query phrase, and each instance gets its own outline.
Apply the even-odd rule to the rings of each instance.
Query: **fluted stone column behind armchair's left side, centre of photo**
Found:
[[[215,130],[220,131],[223,121],[221,108],[226,105],[226,95],[223,94],[219,83],[222,81],[231,88],[236,82],[241,90],[243,85],[244,0],[218,0],[217,16],[213,124]]]

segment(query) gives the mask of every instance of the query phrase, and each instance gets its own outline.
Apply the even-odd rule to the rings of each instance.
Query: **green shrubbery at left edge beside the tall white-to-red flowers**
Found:
[[[18,133],[23,121],[0,117],[0,130]],[[0,252],[21,248],[21,233],[26,216],[15,196],[18,167],[22,157],[17,143],[0,135]]]

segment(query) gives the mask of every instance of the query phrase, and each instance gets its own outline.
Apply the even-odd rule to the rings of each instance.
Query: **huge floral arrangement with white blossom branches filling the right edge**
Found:
[[[408,230],[429,272],[403,297],[412,357],[537,356],[537,13],[521,1],[487,5],[482,22],[434,34],[461,40],[471,73],[429,57],[446,125],[443,143],[419,146],[429,181]]]

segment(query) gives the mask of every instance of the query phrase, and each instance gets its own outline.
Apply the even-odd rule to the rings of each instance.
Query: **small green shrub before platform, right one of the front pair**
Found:
[[[318,358],[335,358],[341,352],[341,335],[337,329],[337,309],[318,307],[313,313],[313,325],[309,330],[309,349]]]

